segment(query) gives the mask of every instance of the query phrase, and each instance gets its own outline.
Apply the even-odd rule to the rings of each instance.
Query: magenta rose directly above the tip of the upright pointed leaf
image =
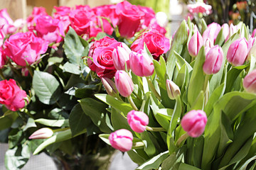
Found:
[[[78,35],[89,34],[90,24],[92,19],[95,18],[95,13],[92,10],[85,11],[80,7],[70,12],[70,26],[75,30]]]

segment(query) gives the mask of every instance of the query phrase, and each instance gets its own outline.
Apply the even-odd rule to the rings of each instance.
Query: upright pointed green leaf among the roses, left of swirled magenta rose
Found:
[[[85,47],[72,27],[69,27],[68,33],[65,35],[63,48],[68,60],[72,64],[80,65]]]

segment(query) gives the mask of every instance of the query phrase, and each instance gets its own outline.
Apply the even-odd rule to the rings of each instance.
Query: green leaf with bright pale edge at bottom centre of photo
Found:
[[[137,169],[147,170],[147,169],[158,169],[160,164],[168,157],[169,152],[162,152],[161,154],[156,155],[155,157],[149,159],[148,161],[144,162],[141,166]]]

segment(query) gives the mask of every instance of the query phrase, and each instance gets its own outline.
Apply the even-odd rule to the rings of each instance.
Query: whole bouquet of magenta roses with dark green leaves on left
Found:
[[[123,1],[95,8],[55,6],[53,16],[36,7],[26,21],[15,22],[2,9],[0,21],[0,140],[9,142],[6,169],[21,169],[31,152],[42,151],[65,169],[107,169],[114,149],[98,134],[114,130],[114,114],[94,94],[109,91],[117,71],[112,54],[131,51],[132,42],[134,49],[143,47],[137,35],[148,39],[156,60],[169,50],[154,11]]]

